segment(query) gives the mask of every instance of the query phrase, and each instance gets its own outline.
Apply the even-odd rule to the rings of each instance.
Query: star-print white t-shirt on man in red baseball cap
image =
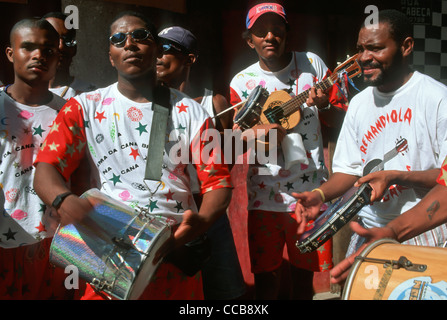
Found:
[[[327,72],[324,62],[311,52],[294,52],[289,65],[279,72],[265,71],[257,62],[233,77],[231,104],[247,99],[257,85],[269,93],[291,89],[291,95],[297,95],[323,80]],[[289,133],[301,134],[308,164],[299,163],[286,170],[282,150],[278,148],[277,164],[250,165],[247,179],[249,210],[293,212],[296,199],[292,192],[312,190],[327,179],[317,108],[306,106],[302,112],[301,122]],[[259,169],[262,174],[258,174]]]

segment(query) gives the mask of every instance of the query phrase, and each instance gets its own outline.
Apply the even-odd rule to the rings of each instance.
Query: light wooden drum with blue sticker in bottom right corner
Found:
[[[356,257],[343,300],[447,300],[447,249],[373,242]]]

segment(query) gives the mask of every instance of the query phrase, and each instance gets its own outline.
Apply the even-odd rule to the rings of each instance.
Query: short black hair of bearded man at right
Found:
[[[413,24],[399,10],[386,9],[379,11],[379,23],[390,25],[390,34],[397,43],[402,43],[408,37],[413,38]],[[365,27],[365,23],[363,23],[363,27]]]

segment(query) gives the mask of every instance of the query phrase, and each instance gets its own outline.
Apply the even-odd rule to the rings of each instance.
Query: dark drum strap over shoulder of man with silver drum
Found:
[[[154,102],[152,103],[153,116],[144,175],[145,180],[161,181],[166,129],[171,113],[169,98],[170,91],[168,88],[163,86],[157,87]]]

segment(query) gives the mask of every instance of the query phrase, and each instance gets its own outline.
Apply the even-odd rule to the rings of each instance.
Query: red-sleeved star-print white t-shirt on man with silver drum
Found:
[[[144,180],[146,161],[151,161],[152,103],[128,99],[116,83],[67,102],[55,121],[59,134],[47,137],[48,147],[36,162],[52,163],[67,179],[70,170],[79,164],[81,150],[85,150],[91,161],[93,185],[101,192],[129,207],[148,208],[151,214],[179,223],[185,210],[197,211],[186,166],[190,156],[203,159],[198,152],[204,144],[197,139],[202,132],[210,131],[206,128],[213,127],[197,102],[180,91],[170,89],[170,93],[172,107],[161,183]],[[198,165],[202,193],[230,187],[226,166],[214,161]]]

